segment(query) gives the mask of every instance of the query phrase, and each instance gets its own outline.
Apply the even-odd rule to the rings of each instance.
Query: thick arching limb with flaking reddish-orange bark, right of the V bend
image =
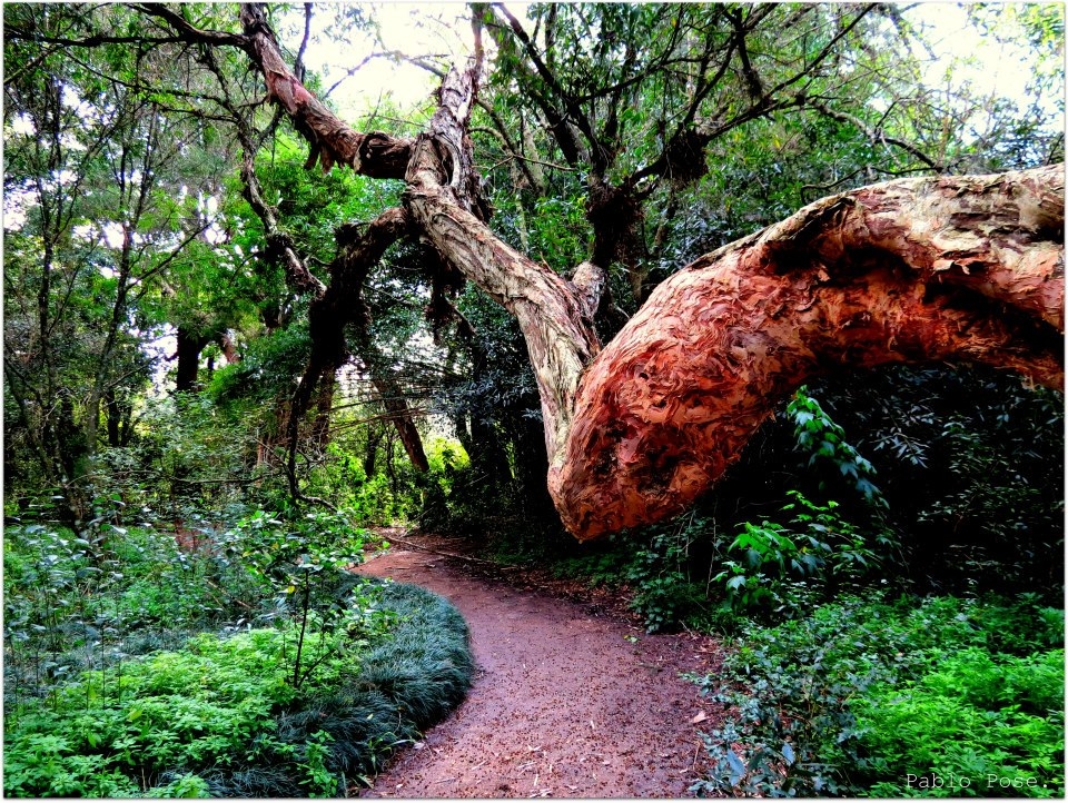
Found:
[[[1064,167],[818,201],[664,281],[593,360],[550,489],[580,538],[683,510],[837,368],[963,360],[1064,383]]]

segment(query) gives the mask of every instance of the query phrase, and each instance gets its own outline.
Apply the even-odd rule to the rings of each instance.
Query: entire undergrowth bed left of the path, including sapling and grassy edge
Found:
[[[9,527],[6,794],[338,796],[454,707],[459,614],[342,571],[367,533],[309,519],[260,510],[196,548]]]

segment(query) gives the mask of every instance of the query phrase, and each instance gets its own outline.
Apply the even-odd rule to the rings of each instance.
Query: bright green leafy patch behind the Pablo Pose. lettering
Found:
[[[945,655],[853,705],[877,797],[1064,797],[1065,652]]]

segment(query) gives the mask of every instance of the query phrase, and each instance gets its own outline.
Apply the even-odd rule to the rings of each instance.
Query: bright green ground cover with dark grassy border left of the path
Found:
[[[295,625],[87,671],[24,701],[6,727],[11,796],[336,796],[464,696],[463,618],[416,586],[372,582],[378,612],[310,640],[298,690]]]

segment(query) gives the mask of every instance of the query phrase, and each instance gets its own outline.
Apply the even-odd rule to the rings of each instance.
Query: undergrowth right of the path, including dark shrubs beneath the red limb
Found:
[[[497,554],[726,640],[691,678],[724,716],[699,795],[1062,797],[1062,400],[981,371],[866,383],[802,388],[673,522]]]

